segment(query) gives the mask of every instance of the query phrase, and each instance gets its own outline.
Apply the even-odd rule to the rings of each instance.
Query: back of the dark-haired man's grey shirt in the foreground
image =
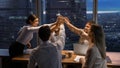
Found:
[[[49,42],[41,44],[32,55],[30,58],[36,61],[39,68],[59,68],[57,49]],[[34,63],[31,63],[29,68],[34,68],[32,64]]]

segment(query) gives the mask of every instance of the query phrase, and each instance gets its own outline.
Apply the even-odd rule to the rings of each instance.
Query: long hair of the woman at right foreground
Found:
[[[103,59],[106,58],[106,45],[105,45],[105,35],[102,27],[97,24],[91,26],[91,32],[93,33],[92,42],[96,45]]]

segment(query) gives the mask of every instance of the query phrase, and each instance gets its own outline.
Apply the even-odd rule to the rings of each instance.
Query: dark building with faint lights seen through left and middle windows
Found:
[[[79,28],[83,28],[86,23],[85,0],[41,0],[39,10],[40,24],[55,22],[57,14],[68,17]],[[25,25],[30,13],[36,14],[36,0],[0,0],[0,47],[8,48],[15,41],[17,32]],[[66,49],[72,49],[72,43],[78,42],[79,36],[66,26],[65,29]],[[36,42],[36,38],[32,42]]]

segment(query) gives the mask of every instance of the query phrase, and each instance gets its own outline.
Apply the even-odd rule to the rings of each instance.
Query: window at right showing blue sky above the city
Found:
[[[93,0],[87,0],[88,19],[92,19]],[[91,6],[91,7],[89,7]],[[120,0],[98,0],[98,24],[104,28],[107,51],[120,51]]]

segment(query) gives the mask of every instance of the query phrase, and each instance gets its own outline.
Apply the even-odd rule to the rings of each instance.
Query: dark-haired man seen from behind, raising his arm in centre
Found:
[[[56,27],[58,26],[56,25],[55,29]],[[35,68],[36,64],[39,68],[62,68],[61,51],[65,44],[65,31],[60,29],[56,35],[56,32],[51,33],[51,29],[49,26],[42,26],[39,29],[42,43],[32,51],[28,68]]]

